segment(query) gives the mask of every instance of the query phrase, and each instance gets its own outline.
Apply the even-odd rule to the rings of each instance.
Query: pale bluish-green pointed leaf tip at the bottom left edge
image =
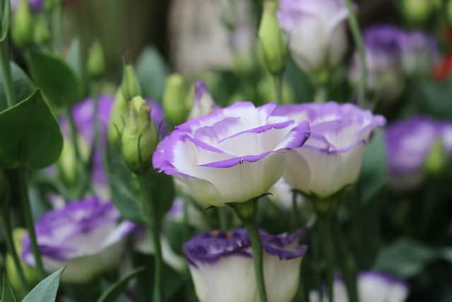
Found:
[[[59,279],[66,267],[62,267],[50,274],[49,277],[40,281],[34,289],[28,293],[22,302],[54,302],[57,298],[57,291],[59,287]]]

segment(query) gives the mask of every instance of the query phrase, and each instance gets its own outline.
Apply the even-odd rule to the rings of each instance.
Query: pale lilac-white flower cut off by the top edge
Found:
[[[278,20],[290,52],[304,71],[337,65],[347,50],[342,0],[281,0]]]

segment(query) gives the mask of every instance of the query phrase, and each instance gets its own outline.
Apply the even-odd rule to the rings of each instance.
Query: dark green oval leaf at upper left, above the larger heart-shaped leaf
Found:
[[[27,57],[32,79],[54,108],[69,108],[81,99],[81,81],[66,62],[45,52]]]

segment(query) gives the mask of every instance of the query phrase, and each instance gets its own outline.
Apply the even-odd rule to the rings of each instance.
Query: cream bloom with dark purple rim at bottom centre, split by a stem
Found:
[[[303,231],[272,236],[261,231],[263,271],[269,302],[289,302],[299,284],[299,266],[307,250]],[[244,228],[215,231],[184,244],[200,302],[258,301],[251,243]]]

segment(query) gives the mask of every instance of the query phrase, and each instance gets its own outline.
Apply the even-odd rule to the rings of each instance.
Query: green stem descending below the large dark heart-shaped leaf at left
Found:
[[[30,199],[28,199],[28,171],[26,168],[19,168],[18,173],[20,202],[22,202],[22,207],[25,214],[25,223],[28,229],[28,236],[30,236],[31,249],[33,256],[35,257],[37,272],[40,274],[40,278],[44,279],[46,277],[46,273],[44,270],[44,265],[42,265],[40,248],[37,245],[35,221],[33,221]]]

